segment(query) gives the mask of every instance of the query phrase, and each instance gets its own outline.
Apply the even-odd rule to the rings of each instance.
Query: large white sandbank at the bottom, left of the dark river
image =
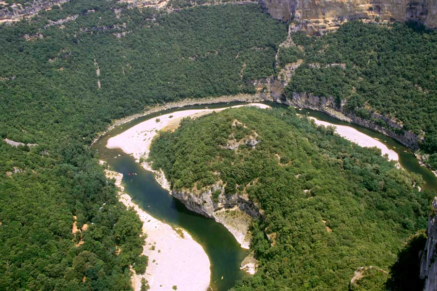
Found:
[[[143,222],[143,233],[147,235],[143,254],[149,257],[149,264],[144,275],[132,276],[134,290],[141,289],[141,278],[149,281],[151,291],[173,290],[173,286],[178,291],[207,290],[211,278],[210,262],[202,246],[184,229],[176,231],[132,202],[123,192],[122,174],[105,170],[105,175],[116,179],[119,200],[126,207],[134,208]]]

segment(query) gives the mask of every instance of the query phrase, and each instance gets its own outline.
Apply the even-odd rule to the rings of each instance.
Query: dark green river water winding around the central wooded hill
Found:
[[[263,103],[274,107],[282,106],[270,102]],[[222,108],[239,104],[243,103],[208,105],[208,108]],[[194,240],[203,246],[211,262],[212,288],[222,291],[231,288],[236,280],[246,276],[244,272],[239,270],[239,266],[247,255],[247,251],[240,247],[224,226],[212,219],[187,210],[180,201],[173,198],[160,187],[150,172],[144,170],[139,163],[134,162],[133,157],[124,154],[119,149],[107,149],[105,147],[107,140],[111,136],[115,136],[144,120],[178,110],[201,108],[205,108],[205,105],[189,106],[143,116],[111,130],[93,148],[97,150],[102,160],[106,161],[115,171],[123,174],[125,192],[133,198],[135,203],[155,218],[165,220],[166,223],[171,225],[183,227],[191,234]],[[308,116],[333,124],[351,126],[371,137],[378,138],[388,148],[398,153],[399,162],[404,169],[422,176],[426,183],[425,189],[437,189],[437,178],[434,174],[427,168],[421,167],[413,153],[398,142],[369,129],[336,120],[324,113],[310,110],[302,110],[299,113],[307,114]],[[137,173],[137,175],[130,175],[130,173]],[[222,276],[223,279],[221,279]],[[195,279],[193,278],[193,280]]]

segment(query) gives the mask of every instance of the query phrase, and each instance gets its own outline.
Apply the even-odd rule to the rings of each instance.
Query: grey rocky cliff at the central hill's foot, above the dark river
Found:
[[[214,198],[213,193],[218,193]],[[258,207],[249,200],[248,195],[226,196],[223,185],[218,182],[211,189],[196,191],[173,189],[171,194],[185,204],[186,208],[213,218],[231,232],[241,247],[248,249],[250,244],[249,226],[252,218],[260,217]]]

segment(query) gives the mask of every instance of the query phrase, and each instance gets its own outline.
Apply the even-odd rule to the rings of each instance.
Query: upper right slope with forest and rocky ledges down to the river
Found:
[[[436,167],[436,40],[435,31],[401,23],[350,21],[322,37],[290,32],[265,94],[421,148]]]

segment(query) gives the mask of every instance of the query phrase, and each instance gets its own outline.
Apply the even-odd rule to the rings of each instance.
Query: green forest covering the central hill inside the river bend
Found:
[[[433,196],[419,192],[413,185],[421,178],[380,150],[357,146],[293,109],[228,109],[184,119],[153,141],[150,160],[173,189],[218,182],[225,195],[247,193],[264,210],[252,225],[258,272],[235,291],[348,290],[363,266],[383,271],[370,270],[363,289],[353,290],[384,290],[403,243],[426,228]],[[417,283],[410,290],[420,290]]]

